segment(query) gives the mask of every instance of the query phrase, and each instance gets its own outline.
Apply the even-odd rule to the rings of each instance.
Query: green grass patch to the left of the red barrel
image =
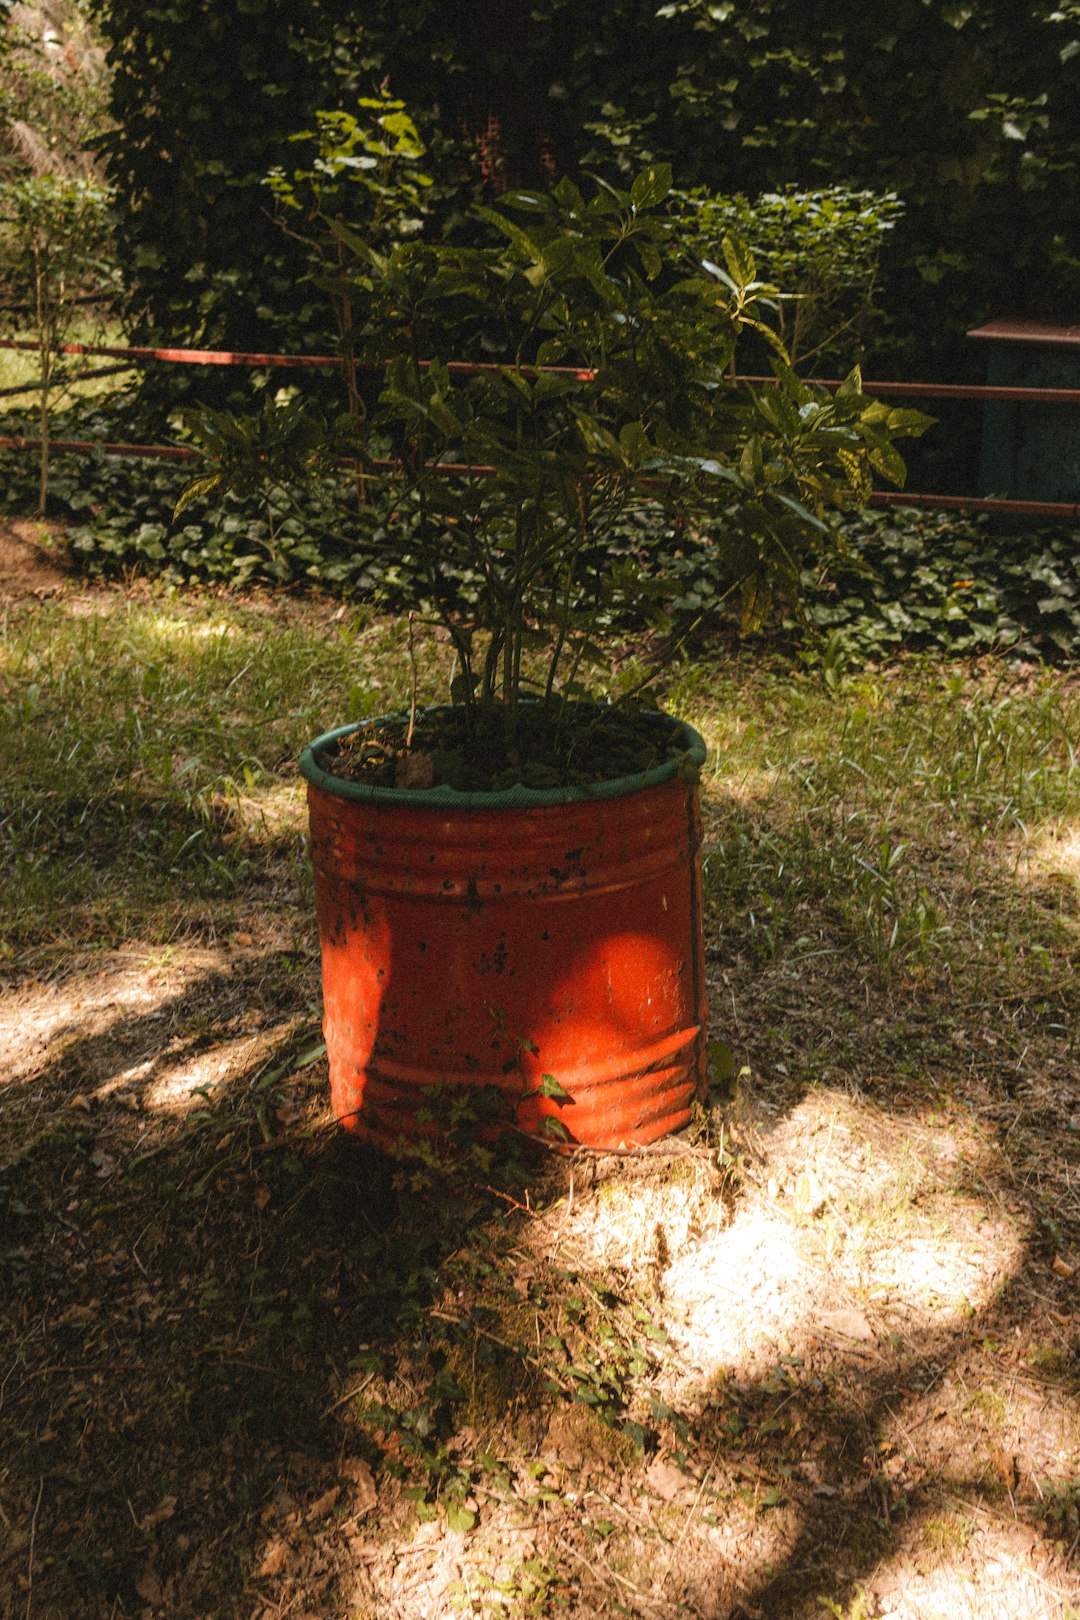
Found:
[[[421,640],[423,693],[444,664]],[[138,912],[167,941],[270,870],[295,889],[300,748],[408,687],[395,627],[332,606],[283,619],[155,593],[10,611],[0,953],[118,944]]]

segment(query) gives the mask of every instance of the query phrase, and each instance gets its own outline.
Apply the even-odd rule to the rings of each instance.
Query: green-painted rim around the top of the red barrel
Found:
[[[322,737],[309,742],[300,755],[300,774],[324,792],[337,794],[338,799],[353,799],[358,804],[416,805],[429,810],[534,810],[546,805],[583,804],[593,799],[625,799],[628,794],[640,794],[644,787],[657,787],[661,782],[670,782],[678,774],[682,763],[678,760],[664,760],[662,765],[654,765],[649,771],[635,771],[633,776],[612,776],[602,782],[589,782],[588,787],[526,787],[523,782],[515,782],[513,787],[500,787],[497,792],[481,794],[463,794],[457,787],[447,787],[445,784],[439,787],[374,787],[369,782],[348,782],[319,765],[319,755],[325,757],[325,752],[334,747],[338,737],[348,737],[366,726],[379,726],[384,721],[405,718],[405,714],[377,714],[371,719],[361,719],[351,726],[337,726],[335,731],[324,732]],[[661,714],[648,710],[641,714],[641,723],[657,732],[664,731],[669,737],[682,739],[687,761],[701,770],[708,750],[704,739],[693,726],[675,719],[674,714]]]

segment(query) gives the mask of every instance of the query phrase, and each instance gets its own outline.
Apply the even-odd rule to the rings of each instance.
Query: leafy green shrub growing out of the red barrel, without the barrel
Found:
[[[656,580],[633,559],[609,565],[630,515],[708,533],[753,629],[777,585],[797,595],[811,559],[842,551],[836,515],[868,499],[873,471],[904,480],[894,441],[926,426],[866,400],[858,373],[836,395],[800,381],[767,319],[776,288],[735,238],[724,264],[688,258],[669,193],[665,165],[588,199],[570,180],[512,193],[478,211],[495,240],[471,248],[381,253],[330,220],[359,272],[327,285],[348,293],[348,352],[382,387],[309,467],[363,460],[382,509],[410,523],[418,606],[457,653],[466,757],[497,748],[517,770],[521,701],[538,698],[560,732],[567,701],[588,697],[580,671],[604,616],[659,614]],[[730,381],[748,332],[772,353],[772,387]],[[206,413],[191,428],[210,462],[193,494],[279,481],[269,428]],[[478,582],[466,608],[447,583],[465,570]]]

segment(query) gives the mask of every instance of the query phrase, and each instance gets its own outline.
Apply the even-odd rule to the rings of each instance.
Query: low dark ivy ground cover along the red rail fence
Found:
[[[34,431],[11,418],[5,428]],[[160,431],[100,407],[71,410],[60,426],[63,436],[94,439],[152,439]],[[6,509],[32,510],[34,457],[0,452],[0,476]],[[406,525],[376,504],[358,510],[351,478],[300,491],[298,512],[275,514],[270,546],[256,497],[230,499],[223,514],[194,502],[173,523],[189,476],[188,463],[58,455],[50,497],[70,520],[79,565],[91,575],[138,570],[176,583],[314,586],[390,608],[415,598],[421,562]],[[894,507],[848,520],[845,535],[850,561],[834,564],[824,580],[806,577],[805,622],[787,622],[810,661],[829,669],[907,650],[1080,656],[1080,531],[1064,525],[1007,531],[986,515]],[[648,561],[651,572],[662,572],[683,625],[711,630],[732,622],[730,598],[724,601],[730,582],[716,569],[708,531],[672,536],[662,514],[638,512],[614,530],[606,557],[607,564]],[[594,561],[604,565],[602,557]],[[447,565],[444,585],[461,603],[474,598],[468,572]]]

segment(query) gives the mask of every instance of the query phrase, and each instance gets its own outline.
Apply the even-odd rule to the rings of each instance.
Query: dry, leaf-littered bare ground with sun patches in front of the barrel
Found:
[[[685,1139],[392,1163],[283,842],[201,938],[0,964],[3,1620],[1075,1620],[1075,975],[730,948]]]

